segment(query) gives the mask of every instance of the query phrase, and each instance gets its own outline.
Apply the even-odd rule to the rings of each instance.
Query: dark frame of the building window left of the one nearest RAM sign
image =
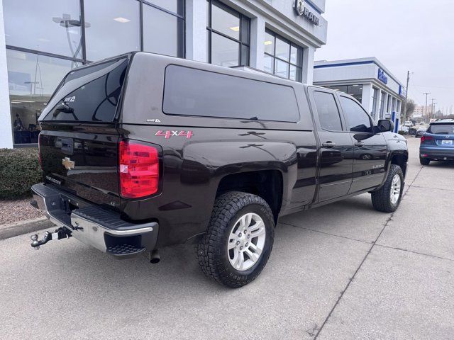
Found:
[[[206,3],[208,4],[208,21],[206,22],[206,30],[207,30],[207,61],[209,64],[212,63],[212,58],[211,58],[211,40],[212,40],[212,35],[213,33],[217,35],[221,35],[221,37],[229,39],[233,42],[237,42],[239,44],[238,48],[238,65],[237,66],[249,66],[250,64],[250,18],[248,16],[245,16],[244,14],[235,11],[233,8],[228,7],[226,4],[223,4],[217,0],[206,0]],[[232,14],[233,16],[238,17],[238,20],[240,22],[240,30],[239,30],[239,39],[232,38],[225,33],[222,33],[221,31],[218,31],[213,28],[212,21],[213,21],[213,16],[212,16],[212,8],[213,6],[216,6],[218,8],[221,8],[221,10],[226,11],[227,13]],[[248,30],[245,32],[244,23],[245,21],[248,22]],[[246,37],[244,37],[246,35]],[[245,38],[245,40],[244,40]],[[246,42],[244,42],[246,41]],[[243,46],[248,49],[248,55],[246,57],[246,60],[243,63]]]

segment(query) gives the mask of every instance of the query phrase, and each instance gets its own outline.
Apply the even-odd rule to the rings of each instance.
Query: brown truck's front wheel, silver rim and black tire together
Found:
[[[394,212],[404,192],[404,173],[400,166],[391,164],[391,169],[380,190],[372,192],[372,205],[378,211]]]

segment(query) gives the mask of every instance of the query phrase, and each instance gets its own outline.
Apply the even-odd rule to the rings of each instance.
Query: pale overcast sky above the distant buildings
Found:
[[[454,105],[454,0],[326,0],[328,42],[315,60],[377,57],[424,105]],[[454,108],[453,108],[454,110]]]

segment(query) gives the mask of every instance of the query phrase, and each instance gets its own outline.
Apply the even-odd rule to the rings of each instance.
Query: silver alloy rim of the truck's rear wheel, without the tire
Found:
[[[249,212],[233,225],[228,237],[228,261],[237,271],[252,267],[262,254],[266,230],[262,217]]]

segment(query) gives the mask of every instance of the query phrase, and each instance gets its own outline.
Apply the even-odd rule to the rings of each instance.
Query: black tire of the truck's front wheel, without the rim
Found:
[[[400,176],[400,194],[399,199],[395,204],[391,201],[391,186],[392,186],[392,179],[394,179],[395,175]],[[380,190],[372,192],[372,205],[374,206],[375,210],[382,211],[382,212],[394,212],[396,211],[397,207],[399,207],[399,203],[402,199],[402,193],[404,193],[404,173],[400,166],[396,164],[391,164],[391,169],[389,169],[388,176],[384,185]]]

